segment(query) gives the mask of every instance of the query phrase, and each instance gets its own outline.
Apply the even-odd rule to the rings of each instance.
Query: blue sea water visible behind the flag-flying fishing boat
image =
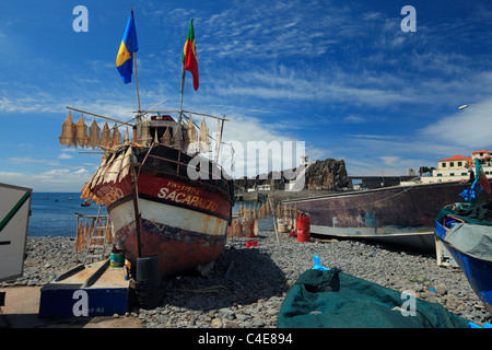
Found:
[[[28,223],[28,236],[72,236],[77,234],[77,215],[97,215],[99,206],[91,203],[82,207],[84,202],[80,192],[33,192],[31,200],[31,217]],[[239,210],[239,203],[235,202],[233,212]],[[257,203],[244,203],[243,206],[257,207]],[[107,215],[106,208],[101,208],[101,214]],[[273,230],[271,218],[258,222],[259,230]]]

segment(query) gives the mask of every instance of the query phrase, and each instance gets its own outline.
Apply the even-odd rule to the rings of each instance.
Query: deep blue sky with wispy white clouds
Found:
[[[58,137],[67,106],[124,121],[138,109],[134,79],[115,65],[130,7],[142,109],[179,108],[194,19],[200,86],[187,72],[184,109],[227,118],[234,177],[263,170],[242,156],[247,142],[304,142],[309,160],[344,160],[349,176],[492,150],[490,1],[2,0],[0,183],[79,191],[96,171],[102,154]]]

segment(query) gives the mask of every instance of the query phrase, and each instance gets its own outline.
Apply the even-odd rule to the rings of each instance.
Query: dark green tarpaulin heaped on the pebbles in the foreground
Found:
[[[307,270],[282,303],[279,328],[469,328],[443,305],[341,272]],[[407,316],[405,316],[406,314]],[[412,315],[414,314],[414,316]]]

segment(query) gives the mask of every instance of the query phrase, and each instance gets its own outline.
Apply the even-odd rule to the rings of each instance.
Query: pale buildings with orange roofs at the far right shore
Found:
[[[422,174],[423,184],[459,182],[470,177],[470,171],[476,174],[475,160],[478,159],[488,177],[492,177],[492,152],[480,150],[471,152],[471,156],[453,155],[437,161],[437,168]]]

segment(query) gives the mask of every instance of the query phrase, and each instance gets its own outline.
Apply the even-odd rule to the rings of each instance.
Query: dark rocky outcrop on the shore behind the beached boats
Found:
[[[296,171],[295,168],[293,171]],[[270,185],[271,189],[285,189],[284,172],[270,172],[268,175],[258,175],[254,178],[238,178],[234,180],[236,192],[246,191],[260,185]],[[327,159],[316,161],[309,165],[305,173],[304,189],[329,189],[336,190],[349,186],[349,178],[343,160],[336,161]]]

